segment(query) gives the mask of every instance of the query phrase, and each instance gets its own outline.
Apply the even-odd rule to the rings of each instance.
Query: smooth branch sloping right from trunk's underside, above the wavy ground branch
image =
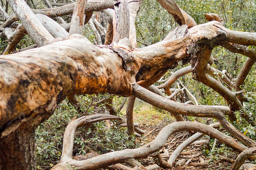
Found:
[[[217,81],[218,82],[218,81]],[[132,89],[133,95],[159,107],[171,113],[177,113],[187,116],[196,116],[196,117],[213,117],[216,118],[220,124],[232,135],[234,135],[238,140],[243,142],[246,146],[254,147],[256,142],[242,134],[238,129],[232,126],[224,117],[224,115],[230,115],[229,107],[225,106],[197,106],[197,105],[186,105],[183,103],[178,103],[171,101],[162,96],[156,95],[143,87],[134,84]]]

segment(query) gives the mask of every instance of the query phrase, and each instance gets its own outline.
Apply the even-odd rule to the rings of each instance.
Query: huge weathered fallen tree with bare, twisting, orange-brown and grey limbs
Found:
[[[252,63],[256,61],[255,50],[247,47],[256,45],[256,33],[226,29],[220,23],[222,20],[213,14],[207,19],[214,21],[196,25],[196,22],[173,0],[158,0],[180,26],[174,28],[162,42],[136,48],[134,18],[140,8],[140,1],[99,1],[95,9],[103,10],[110,6],[114,9],[108,11],[113,17],[113,42],[112,45],[94,45],[81,35],[84,22],[92,16],[92,13],[87,13],[87,16],[84,13],[94,10],[94,7],[90,7],[93,3],[89,3],[93,1],[88,1],[86,4],[86,0],[77,0],[71,23],[66,29],[69,32],[48,17],[70,14],[72,11],[70,6],[74,4],[68,5],[69,8],[66,6],[32,11],[24,0],[7,0],[7,2],[15,14],[9,16],[3,9],[0,10],[6,18],[1,25],[2,31],[9,39],[5,52],[12,53],[23,34],[29,34],[39,47],[0,57],[0,155],[2,158],[0,169],[36,168],[35,129],[50,117],[66,96],[74,94],[104,92],[121,96],[134,95],[156,107],[170,111],[178,121],[184,120],[181,115],[216,118],[244,145],[256,146],[255,141],[242,134],[225,117],[228,115],[230,120],[234,121],[236,119],[234,111],[243,107],[240,85],[244,83],[244,77],[249,73]],[[89,7],[91,10],[88,10]],[[68,12],[65,13],[66,9]],[[58,14],[57,10],[60,10]],[[47,22],[42,22],[45,21],[42,18]],[[15,20],[20,20],[21,24],[14,26]],[[13,32],[9,26],[13,26],[16,30]],[[52,29],[52,26],[56,29]],[[235,91],[211,76],[212,49],[219,45],[248,56],[248,61],[236,79]],[[161,91],[151,85],[168,69],[177,67],[179,61],[189,61],[191,66],[186,67],[183,73],[177,73],[177,77],[191,71],[195,80],[211,87],[224,97],[229,107],[189,105],[172,101],[170,85],[177,77],[173,79],[171,77],[169,81],[158,87],[163,88],[170,99],[165,95],[161,96]],[[221,77],[226,84],[231,84],[231,80],[224,73]],[[132,103],[130,107],[133,108]],[[132,133],[134,123],[132,113],[129,115],[127,126],[128,131]],[[249,115],[243,116],[250,121]],[[176,127],[176,131],[177,129],[195,130],[208,134],[238,152],[246,149],[246,146],[235,139],[229,137],[230,140],[227,140],[228,136],[223,136],[224,134],[218,130],[206,125],[174,123],[164,128],[158,135],[159,138],[164,138],[160,143],[156,138],[155,142],[146,144],[142,148],[108,153],[107,156],[111,159],[107,160],[100,159],[106,155],[82,162],[72,160],[70,154],[72,141],[70,141],[69,152],[63,150],[61,165],[58,164],[54,168],[97,169],[129,158],[146,157],[161,148],[172,134],[172,131],[168,131],[170,133],[168,134],[165,130],[172,126]],[[143,154],[141,150],[144,151]],[[65,154],[68,154],[68,157]],[[126,157],[123,157],[124,154]]]

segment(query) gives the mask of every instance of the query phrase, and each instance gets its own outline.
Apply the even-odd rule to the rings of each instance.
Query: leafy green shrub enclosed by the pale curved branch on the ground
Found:
[[[96,150],[100,154],[126,148],[135,148],[135,136],[127,136],[127,128],[107,128],[103,122],[94,123],[87,130],[80,129],[79,137],[76,137],[73,154],[86,154]]]

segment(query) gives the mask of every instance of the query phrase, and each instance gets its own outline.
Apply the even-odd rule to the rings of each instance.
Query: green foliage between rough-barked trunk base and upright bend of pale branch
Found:
[[[74,107],[65,100],[58,105],[54,114],[37,128],[38,167],[42,166],[48,169],[60,160],[64,130],[76,115]]]

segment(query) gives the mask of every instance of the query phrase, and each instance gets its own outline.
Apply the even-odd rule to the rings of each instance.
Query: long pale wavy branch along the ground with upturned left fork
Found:
[[[83,121],[83,123],[85,123],[85,121]],[[82,125],[83,123],[80,122],[79,125]],[[73,123],[73,125],[75,125],[75,123]],[[69,127],[74,127],[73,125],[72,126],[70,125]],[[70,130],[69,131],[74,133],[73,129],[74,128],[70,128],[71,131]],[[73,160],[71,155],[72,142],[68,142],[69,144],[65,144],[65,146],[63,147],[63,148],[68,148],[68,150],[64,152],[66,154],[62,153],[62,158],[60,163],[58,163],[52,169],[61,169],[68,166],[69,167],[74,166],[77,169],[93,170],[93,169],[109,166],[111,164],[125,162],[130,158],[134,158],[134,159],[144,158],[156,152],[157,150],[160,150],[160,148],[164,146],[166,140],[171,134],[182,131],[182,130],[187,130],[187,129],[208,134],[213,138],[218,139],[220,142],[223,142],[224,144],[233,148],[234,150],[237,150],[238,152],[242,152],[243,150],[246,149],[246,146],[240,144],[240,142],[237,142],[234,138],[223,134],[222,132],[216,130],[215,128],[209,127],[201,123],[196,123],[196,122],[174,122],[164,127],[152,142],[144,146],[141,146],[140,148],[110,152],[110,153],[96,156],[94,158],[90,158],[87,160],[81,160],[81,161]],[[73,141],[74,138],[70,139],[70,137],[68,137],[67,140]]]

